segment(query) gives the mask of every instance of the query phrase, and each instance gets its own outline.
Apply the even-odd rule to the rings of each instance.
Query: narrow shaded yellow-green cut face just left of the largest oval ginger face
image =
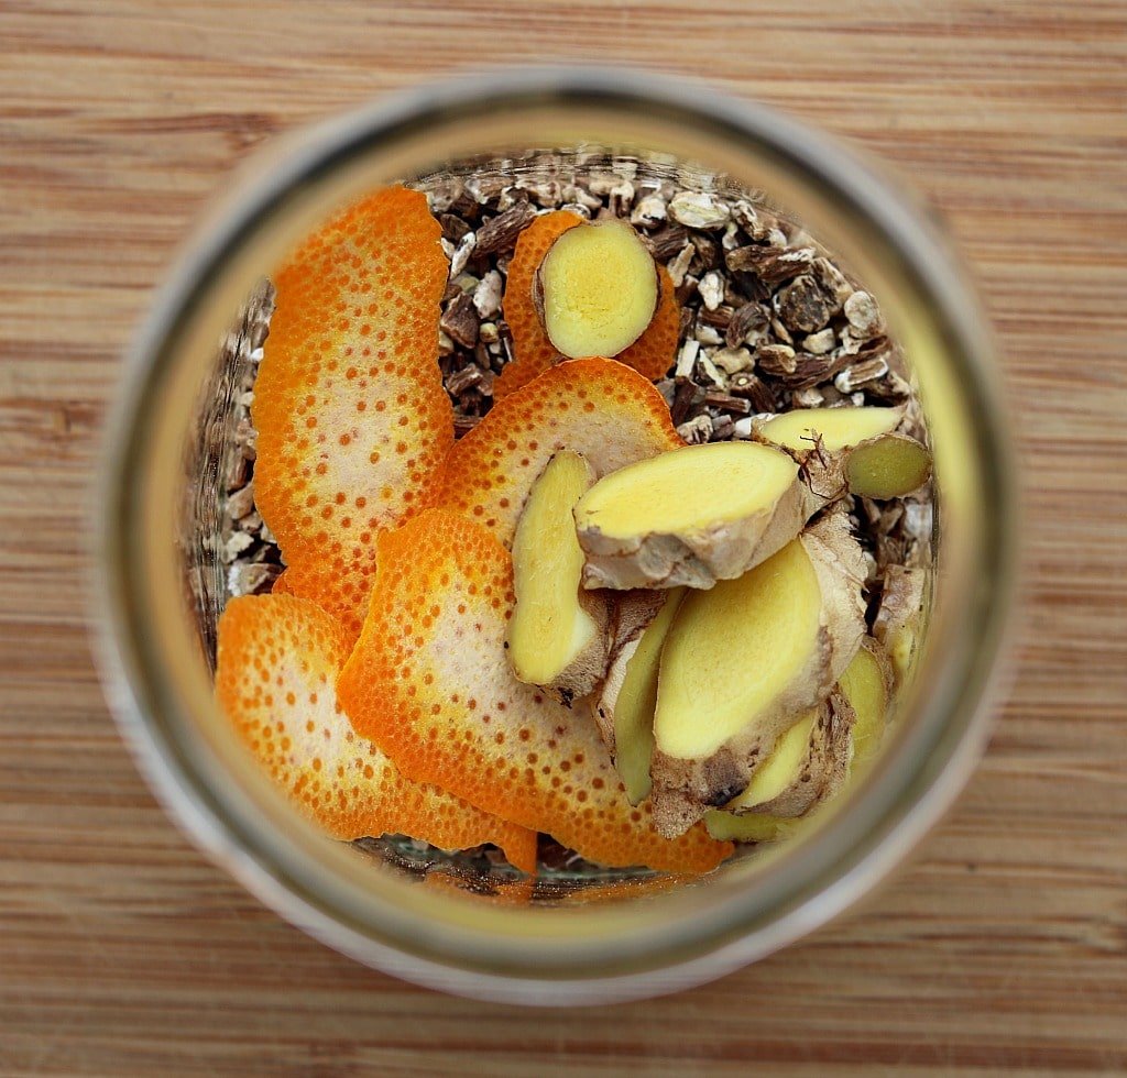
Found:
[[[640,804],[649,795],[658,666],[662,647],[683,598],[683,588],[673,589],[642,633],[614,704],[614,766],[631,804]]]

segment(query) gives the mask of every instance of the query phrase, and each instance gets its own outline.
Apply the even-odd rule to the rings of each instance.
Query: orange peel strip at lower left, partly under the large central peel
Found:
[[[495,843],[535,872],[534,831],[411,782],[354,732],[335,689],[350,650],[347,632],[309,599],[243,596],[223,611],[216,695],[275,783],[334,838],[401,834],[442,849]]]

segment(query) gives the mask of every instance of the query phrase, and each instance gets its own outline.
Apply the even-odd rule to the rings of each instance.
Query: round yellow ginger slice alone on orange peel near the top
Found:
[[[622,221],[568,229],[533,288],[548,339],[573,359],[629,348],[654,320],[659,295],[654,258]]]

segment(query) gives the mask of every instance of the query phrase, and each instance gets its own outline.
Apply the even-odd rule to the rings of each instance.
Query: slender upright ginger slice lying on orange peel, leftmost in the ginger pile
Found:
[[[579,587],[583,551],[571,516],[594,481],[578,453],[557,453],[532,484],[513,538],[508,660],[518,681],[568,705],[602,680],[610,650],[609,603]]]

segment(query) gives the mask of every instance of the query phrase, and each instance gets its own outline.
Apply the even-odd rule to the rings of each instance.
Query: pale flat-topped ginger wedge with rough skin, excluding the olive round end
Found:
[[[797,408],[754,420],[752,436],[787,449],[801,465],[807,487],[824,504],[849,489],[846,474],[853,453],[890,436],[904,415],[904,408]],[[869,473],[862,470],[858,474],[863,482]]]

